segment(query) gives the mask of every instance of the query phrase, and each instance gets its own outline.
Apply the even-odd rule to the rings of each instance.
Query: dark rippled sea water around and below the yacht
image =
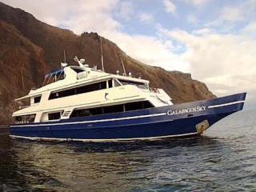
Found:
[[[31,142],[0,135],[0,191],[256,191],[256,110],[199,138]]]

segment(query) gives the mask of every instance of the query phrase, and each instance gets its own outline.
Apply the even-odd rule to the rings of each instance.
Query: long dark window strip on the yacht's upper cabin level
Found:
[[[104,89],[106,89],[106,82],[105,81],[97,82],[97,83],[86,85],[86,86],[79,86],[69,90],[62,90],[55,93],[51,93],[49,99],[64,98],[74,94],[84,94],[84,93],[92,92],[95,90],[104,90]]]

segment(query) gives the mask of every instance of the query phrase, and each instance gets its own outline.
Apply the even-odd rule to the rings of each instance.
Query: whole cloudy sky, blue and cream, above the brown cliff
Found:
[[[97,32],[151,66],[180,70],[256,108],[256,0],[2,0],[75,34]]]

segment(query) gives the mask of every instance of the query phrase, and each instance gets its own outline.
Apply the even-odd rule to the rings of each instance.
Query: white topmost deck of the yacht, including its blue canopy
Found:
[[[36,97],[45,91],[57,91],[65,90],[70,87],[82,86],[84,84],[90,84],[92,82],[99,82],[104,79],[115,78],[120,81],[126,81],[134,85],[149,86],[149,81],[141,78],[133,78],[130,76],[123,76],[118,74],[108,74],[102,70],[90,68],[89,66],[66,66],[62,70],[54,71],[50,74],[46,74],[42,87],[38,89],[31,89],[30,93],[22,98],[17,98],[15,101],[22,100],[24,98]],[[125,82],[124,82],[125,83]]]

